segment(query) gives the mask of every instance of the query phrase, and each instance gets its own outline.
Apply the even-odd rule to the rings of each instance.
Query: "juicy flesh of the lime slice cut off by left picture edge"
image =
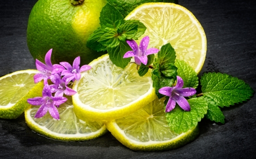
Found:
[[[0,80],[0,106],[14,105],[35,86],[35,73],[13,74]]]

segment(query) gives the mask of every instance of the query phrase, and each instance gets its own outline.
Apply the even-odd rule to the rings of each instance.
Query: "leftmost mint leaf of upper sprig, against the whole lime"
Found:
[[[104,31],[101,28],[97,28],[96,31],[89,36],[86,46],[92,50],[105,51],[106,46],[103,46],[98,40],[104,35]]]

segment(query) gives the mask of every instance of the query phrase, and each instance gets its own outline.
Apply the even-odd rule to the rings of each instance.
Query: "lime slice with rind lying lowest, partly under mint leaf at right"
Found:
[[[112,135],[135,151],[163,151],[179,148],[194,140],[199,128],[176,134],[170,130],[164,113],[164,99],[156,98],[127,117],[106,122]]]

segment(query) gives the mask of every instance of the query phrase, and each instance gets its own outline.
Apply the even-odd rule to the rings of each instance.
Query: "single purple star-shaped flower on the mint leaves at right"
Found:
[[[177,76],[177,84],[175,87],[163,87],[159,89],[159,93],[170,97],[166,105],[166,112],[170,112],[174,109],[176,102],[183,110],[190,111],[189,103],[184,97],[193,96],[193,94],[196,93],[196,89],[182,88],[183,84],[183,79]]]

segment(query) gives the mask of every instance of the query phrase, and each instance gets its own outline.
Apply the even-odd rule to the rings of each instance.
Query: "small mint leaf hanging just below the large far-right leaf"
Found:
[[[221,109],[218,107],[216,102],[214,102],[212,99],[204,97],[204,100],[208,103],[208,110],[207,114],[205,115],[208,119],[214,122],[221,122],[224,124],[225,116],[222,113]]]

